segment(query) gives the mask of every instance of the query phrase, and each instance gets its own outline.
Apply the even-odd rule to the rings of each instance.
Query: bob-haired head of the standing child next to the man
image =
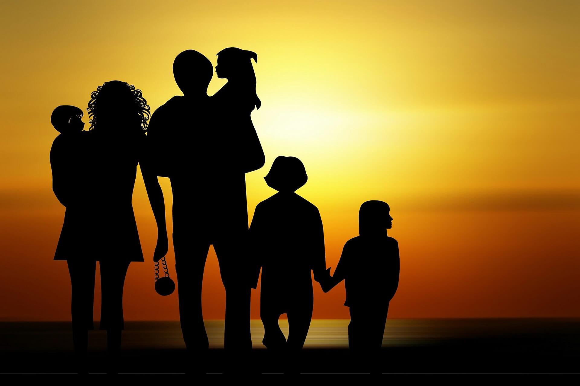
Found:
[[[304,164],[296,157],[278,156],[264,177],[270,188],[278,192],[294,192],[308,181]]]

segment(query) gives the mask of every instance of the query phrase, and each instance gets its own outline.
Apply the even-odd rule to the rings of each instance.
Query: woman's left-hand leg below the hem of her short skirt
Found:
[[[89,329],[93,329],[95,298],[95,261],[68,260],[71,277],[71,318],[75,354],[84,356],[88,348]]]

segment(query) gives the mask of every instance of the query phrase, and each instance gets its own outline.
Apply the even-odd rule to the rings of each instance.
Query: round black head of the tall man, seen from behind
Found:
[[[173,61],[173,76],[183,95],[200,95],[207,93],[213,76],[213,66],[199,52],[186,50]]]

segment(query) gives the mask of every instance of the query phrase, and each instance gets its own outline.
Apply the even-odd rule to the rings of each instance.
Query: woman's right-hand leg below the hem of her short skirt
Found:
[[[101,323],[100,329],[107,330],[107,351],[117,354],[121,348],[123,319],[123,286],[130,262],[99,263],[101,271]]]

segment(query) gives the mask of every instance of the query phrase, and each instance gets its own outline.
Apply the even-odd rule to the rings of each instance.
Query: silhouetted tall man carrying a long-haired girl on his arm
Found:
[[[157,154],[158,175],[169,177],[173,191],[173,247],[179,314],[188,350],[208,348],[201,311],[201,287],[209,245],[218,255],[226,288],[224,347],[250,350],[251,286],[244,244],[248,232],[244,173],[230,159],[227,130],[212,112],[207,87],[211,62],[187,50],[173,63],[183,97],[173,97],[151,117],[149,134]]]

